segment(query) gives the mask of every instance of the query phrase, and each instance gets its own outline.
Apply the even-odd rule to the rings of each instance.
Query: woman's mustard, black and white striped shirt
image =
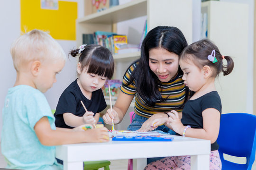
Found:
[[[182,73],[179,73],[173,80],[164,83],[161,82],[159,91],[163,98],[167,99],[164,102],[156,102],[154,107],[147,106],[142,98],[136,93],[137,87],[135,81],[127,85],[129,82],[130,76],[136,68],[138,63],[134,63],[126,72],[122,86],[120,90],[128,95],[135,95],[135,106],[134,111],[137,115],[143,116],[145,118],[151,117],[156,113],[170,112],[170,110],[176,110],[181,112],[181,109],[177,109],[183,105],[185,101],[185,85],[182,80]],[[162,91],[161,91],[162,88]]]

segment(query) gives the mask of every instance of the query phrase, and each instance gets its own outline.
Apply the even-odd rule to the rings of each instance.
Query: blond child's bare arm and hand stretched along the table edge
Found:
[[[81,130],[78,128],[81,128]],[[38,120],[34,129],[40,143],[47,146],[109,141],[108,129],[106,127],[86,131],[82,130],[82,127],[76,127],[72,130],[65,130],[64,128],[53,130],[47,117]]]

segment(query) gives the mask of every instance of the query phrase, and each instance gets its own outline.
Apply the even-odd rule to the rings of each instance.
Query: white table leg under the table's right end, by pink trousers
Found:
[[[209,170],[210,155],[191,155],[191,170]]]

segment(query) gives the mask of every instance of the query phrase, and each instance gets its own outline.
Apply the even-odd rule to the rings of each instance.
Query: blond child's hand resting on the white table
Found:
[[[86,133],[86,142],[108,142],[110,140],[106,127],[86,130],[84,133]]]

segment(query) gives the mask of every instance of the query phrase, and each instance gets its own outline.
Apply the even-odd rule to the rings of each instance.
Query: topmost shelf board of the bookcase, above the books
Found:
[[[133,0],[123,5],[118,5],[101,12],[97,12],[77,19],[78,23],[110,24],[125,21],[135,17],[146,16],[147,0]],[[127,15],[128,14],[128,15]]]

